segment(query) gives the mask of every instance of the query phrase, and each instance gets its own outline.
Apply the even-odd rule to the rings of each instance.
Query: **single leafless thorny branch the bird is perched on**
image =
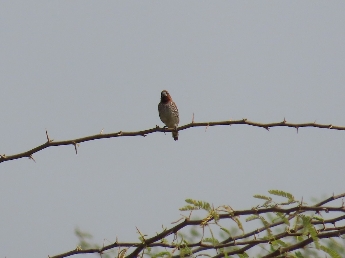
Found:
[[[251,126],[257,126],[257,127],[262,127],[265,128],[266,130],[269,130],[270,127],[277,127],[277,126],[286,126],[286,127],[293,127],[296,128],[296,131],[298,132],[298,128],[300,127],[318,127],[318,128],[326,128],[326,129],[335,129],[335,130],[345,130],[345,127],[340,127],[340,126],[333,126],[333,125],[321,125],[316,122],[314,123],[287,123],[285,118],[282,122],[277,122],[277,123],[257,123],[257,122],[252,122],[248,121],[246,118],[243,118],[242,120],[234,120],[234,121],[219,121],[219,122],[201,122],[201,123],[196,123],[194,122],[194,114],[193,114],[193,121],[187,125],[180,126],[177,128],[178,131],[185,130],[191,127],[206,127],[206,129],[210,126],[221,126],[221,125],[251,125]],[[104,128],[103,128],[104,129]],[[162,128],[159,126],[156,126],[155,128],[152,129],[147,129],[143,131],[136,131],[136,132],[115,132],[115,133],[106,133],[102,134],[102,131],[97,134],[97,135],[91,135],[87,137],[82,137],[78,139],[73,139],[73,140],[66,140],[66,141],[54,141],[50,140],[48,136],[48,132],[46,130],[46,136],[47,136],[47,142],[37,146],[36,148],[33,148],[31,150],[14,154],[14,155],[5,155],[5,154],[0,154],[0,163],[8,160],[14,160],[14,159],[19,159],[19,158],[24,158],[28,157],[32,160],[32,154],[36,153],[40,150],[43,150],[45,148],[51,147],[51,146],[61,146],[61,145],[73,145],[75,147],[76,153],[77,153],[77,145],[79,146],[78,143],[80,142],[85,142],[85,141],[91,141],[91,140],[96,140],[96,139],[103,139],[103,138],[113,138],[113,137],[122,137],[122,136],[146,136],[149,133],[153,132],[171,132],[174,129],[169,129],[169,128]]]

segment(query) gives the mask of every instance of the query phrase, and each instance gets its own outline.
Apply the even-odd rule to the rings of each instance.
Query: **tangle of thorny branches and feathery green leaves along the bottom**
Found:
[[[116,241],[99,247],[88,243],[90,235],[76,230],[81,245],[74,251],[51,258],[81,252],[96,252],[102,257],[109,257],[107,250],[115,251],[117,258],[230,258],[235,255],[307,258],[325,254],[333,258],[345,257],[345,242],[339,238],[345,236],[345,226],[335,227],[335,222],[345,221],[345,207],[343,203],[340,206],[325,206],[345,197],[345,193],[312,206],[304,206],[284,191],[271,190],[269,193],[287,198],[288,202],[274,202],[271,197],[255,195],[255,198],[264,200],[264,204],[235,210],[228,205],[215,207],[208,202],[187,199],[187,205],[180,210],[188,212],[189,216],[183,216],[170,229],[163,227],[163,231],[156,236],[149,238],[138,229],[139,243]],[[323,218],[325,213],[331,218]],[[343,214],[338,216],[339,213]],[[191,216],[201,214],[201,219],[191,219]]]

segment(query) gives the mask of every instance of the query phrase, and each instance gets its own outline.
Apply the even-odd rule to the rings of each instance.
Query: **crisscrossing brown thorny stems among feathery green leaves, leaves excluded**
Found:
[[[345,213],[345,207],[342,205],[341,207],[331,207],[331,206],[325,206],[322,205],[325,203],[329,203],[333,200],[339,199],[345,197],[345,193],[332,196],[330,198],[327,198],[326,200],[322,201],[321,203],[315,204],[313,206],[304,206],[303,204],[297,202],[297,206],[293,208],[281,208],[279,206],[284,206],[286,204],[272,204],[272,205],[263,205],[264,208],[252,208],[249,210],[242,210],[242,211],[234,211],[229,206],[229,209],[224,209],[225,206],[218,207],[216,209],[212,208],[212,211],[216,211],[219,213],[218,217],[211,217],[206,221],[205,219],[189,219],[189,217],[184,217],[184,221],[177,224],[176,226],[170,228],[170,229],[164,229],[163,232],[157,233],[156,236],[151,238],[141,238],[140,243],[119,243],[116,241],[113,244],[110,244],[108,246],[103,246],[102,248],[94,248],[94,249],[86,249],[82,250],[81,247],[78,247],[75,250],[66,252],[64,254],[56,255],[56,256],[50,256],[50,258],[62,258],[67,257],[75,254],[90,254],[90,253],[98,253],[100,255],[104,254],[106,250],[113,249],[113,248],[119,248],[119,257],[121,258],[135,258],[135,257],[142,257],[144,254],[151,255],[149,253],[145,253],[145,250],[147,250],[148,247],[162,247],[165,248],[165,250],[170,249],[171,254],[162,257],[170,257],[170,258],[179,258],[183,256],[189,256],[189,257],[197,257],[198,255],[202,255],[204,253],[200,253],[201,251],[205,250],[216,250],[216,255],[210,256],[212,258],[222,258],[227,257],[230,255],[235,254],[244,254],[244,252],[252,247],[255,247],[259,244],[267,244],[272,245],[273,250],[269,250],[267,255],[264,255],[262,257],[269,258],[269,257],[286,257],[286,255],[297,249],[305,248],[309,244],[315,242],[315,239],[323,239],[323,238],[331,238],[331,237],[340,237],[345,234],[345,226],[335,227],[335,223],[338,221],[344,221],[345,215],[334,217],[332,219],[320,219],[319,217],[313,218],[310,217],[309,225],[311,225],[312,228],[315,229],[315,235],[312,236],[311,232],[305,231],[305,225],[299,224],[294,227],[290,228],[290,224],[287,221],[290,221],[292,218],[301,219],[304,216],[307,216],[307,214],[304,214],[305,212],[316,212],[321,215],[321,212],[329,213],[332,212],[341,212]],[[295,201],[291,202],[296,203]],[[268,207],[269,206],[269,207]],[[273,207],[272,207],[273,206]],[[253,230],[252,232],[237,235],[237,236],[230,236],[229,238],[221,241],[221,242],[214,242],[209,243],[209,241],[206,241],[204,239],[204,235],[201,237],[201,240],[196,243],[188,243],[187,241],[180,241],[178,243],[174,243],[174,241],[177,239],[177,235],[179,233],[179,230],[186,228],[188,226],[192,225],[207,225],[208,223],[215,223],[217,224],[220,219],[226,219],[226,218],[235,218],[239,217],[239,215],[258,215],[258,214],[269,214],[271,212],[276,213],[283,213],[286,214],[287,217],[286,220],[284,219],[278,221],[278,222],[272,222],[267,223],[264,225],[264,227],[258,228]],[[338,214],[338,213],[337,213]],[[272,232],[272,229],[278,225],[285,224],[285,230],[280,231],[278,234],[267,234],[268,236],[264,236],[261,238],[258,238],[257,236],[261,233],[264,234],[264,232]],[[332,224],[331,227],[326,227],[327,224]],[[319,229],[316,229],[316,225],[322,225]],[[138,231],[139,232],[139,231]],[[140,233],[142,236],[142,234]],[[175,236],[172,243],[167,243],[163,239],[168,237],[169,235]],[[248,237],[252,237],[252,239],[248,239]],[[290,245],[282,245],[282,241],[278,242],[280,243],[280,246],[278,247],[277,241],[280,241],[281,239],[285,239],[286,237],[300,237],[299,240],[297,240],[295,244]],[[287,239],[285,239],[287,240]],[[232,248],[231,247],[236,247]],[[122,251],[120,251],[121,248]],[[229,249],[230,248],[230,249]],[[185,249],[189,250],[189,253],[186,253]],[[128,255],[126,255],[126,252],[131,251]],[[173,255],[174,252],[178,250],[181,253],[177,255]],[[121,254],[121,255],[120,255]],[[285,256],[284,256],[285,255]],[[208,255],[209,256],[209,255]]]

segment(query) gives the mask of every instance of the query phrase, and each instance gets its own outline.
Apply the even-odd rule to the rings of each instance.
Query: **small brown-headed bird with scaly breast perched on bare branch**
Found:
[[[166,127],[174,128],[175,130],[171,132],[172,138],[177,141],[178,131],[177,126],[180,122],[180,117],[178,115],[178,110],[175,102],[172,101],[170,94],[163,90],[160,93],[160,103],[158,104],[158,114],[160,120],[165,123]]]

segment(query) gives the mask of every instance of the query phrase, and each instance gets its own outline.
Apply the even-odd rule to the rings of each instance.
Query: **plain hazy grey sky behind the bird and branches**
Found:
[[[1,1],[0,153],[51,139],[238,120],[345,126],[344,1]],[[138,241],[186,198],[259,204],[345,192],[345,132],[247,125],[51,147],[0,164],[0,257],[76,248],[75,227]],[[339,201],[340,202],[340,201]],[[309,202],[312,204],[312,202]]]

